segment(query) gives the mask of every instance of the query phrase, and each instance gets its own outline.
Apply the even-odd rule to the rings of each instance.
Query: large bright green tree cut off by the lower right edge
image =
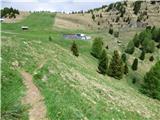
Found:
[[[160,61],[144,76],[142,92],[149,97],[160,100]]]

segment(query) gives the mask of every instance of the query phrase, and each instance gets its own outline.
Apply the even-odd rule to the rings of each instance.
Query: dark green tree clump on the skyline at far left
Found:
[[[13,9],[5,7],[3,9],[1,9],[1,18],[2,17],[9,17],[9,18],[16,18],[16,14],[19,15],[19,11],[17,9]]]

